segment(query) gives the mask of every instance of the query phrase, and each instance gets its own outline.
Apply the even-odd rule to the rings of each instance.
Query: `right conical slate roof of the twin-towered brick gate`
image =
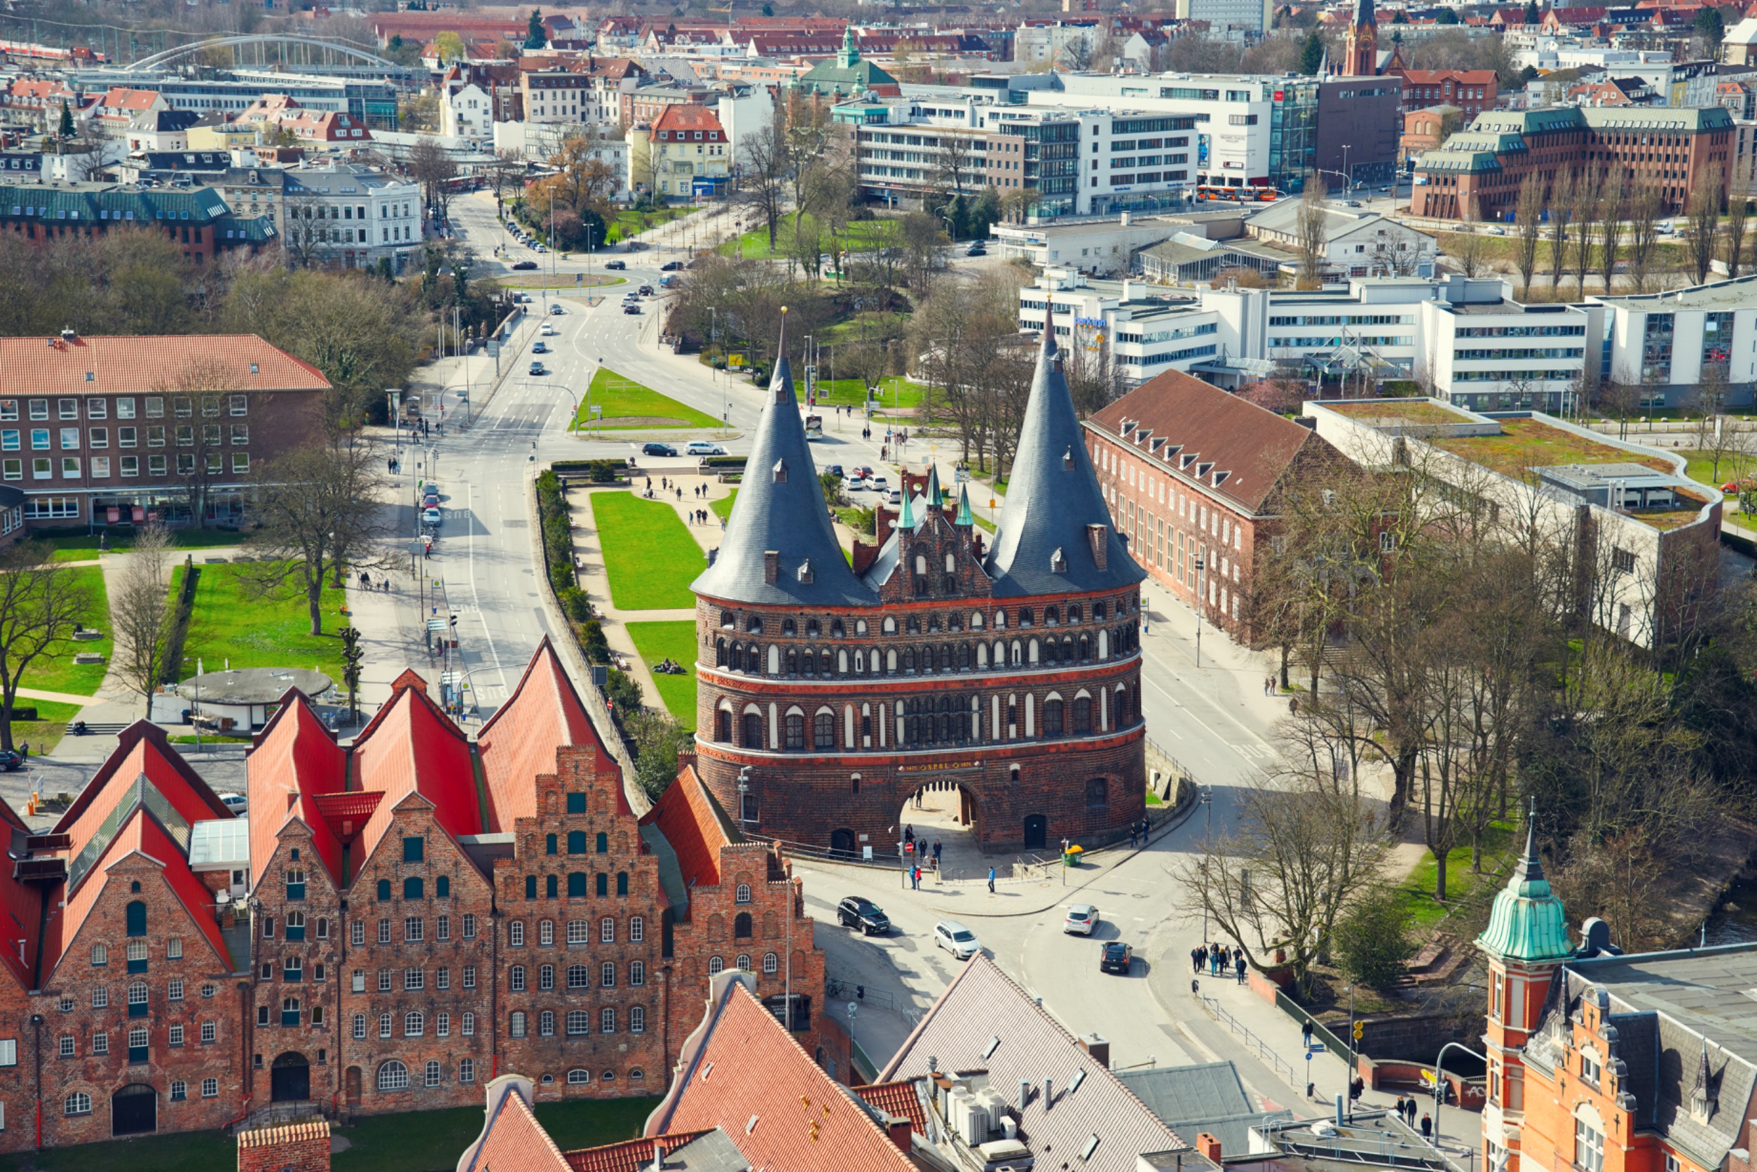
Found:
[[[1088,525],[1103,525],[1102,561]],[[1054,306],[1044,315],[1031,399],[984,569],[994,578],[994,597],[1114,590],[1147,576],[1110,524],[1086,453],[1086,436],[1056,350]]]

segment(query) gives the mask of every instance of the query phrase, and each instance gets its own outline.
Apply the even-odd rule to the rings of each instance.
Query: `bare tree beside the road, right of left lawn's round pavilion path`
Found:
[[[251,585],[304,597],[311,634],[323,634],[323,582],[344,566],[378,564],[390,536],[383,459],[355,432],[330,436],[265,464],[257,478],[258,555]]]

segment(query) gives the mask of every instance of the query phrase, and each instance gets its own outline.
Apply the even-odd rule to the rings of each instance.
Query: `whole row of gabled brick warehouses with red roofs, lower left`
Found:
[[[652,1095],[722,970],[849,1077],[799,880],[689,764],[636,817],[546,643],[474,740],[404,673],[346,747],[290,692],[248,768],[246,824],[139,722],[51,833],[0,803],[0,1151]]]

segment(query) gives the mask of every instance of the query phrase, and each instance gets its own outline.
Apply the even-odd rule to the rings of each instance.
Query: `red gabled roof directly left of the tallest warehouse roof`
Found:
[[[362,835],[365,859],[390,828],[392,812],[409,794],[434,805],[434,819],[448,835],[481,833],[481,801],[469,740],[427,696],[427,684],[413,671],[392,682],[394,698],[353,742],[360,789],[385,794]]]

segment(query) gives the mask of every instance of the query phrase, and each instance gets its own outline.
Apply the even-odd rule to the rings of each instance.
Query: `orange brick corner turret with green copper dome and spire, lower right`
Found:
[[[1525,857],[1495,894],[1476,947],[1488,959],[1488,1102],[1483,1107],[1485,1172],[1518,1172],[1525,1121],[1525,1042],[1543,1017],[1555,970],[1573,959],[1567,915],[1537,857],[1536,810],[1525,828]]]

